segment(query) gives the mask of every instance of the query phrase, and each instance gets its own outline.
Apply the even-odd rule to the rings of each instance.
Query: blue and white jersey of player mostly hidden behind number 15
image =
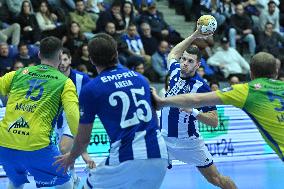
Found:
[[[79,72],[77,70],[73,70],[73,69],[71,69],[71,71],[70,71],[69,78],[73,81],[73,83],[76,87],[76,91],[77,91],[78,96],[81,93],[82,87],[90,81],[90,77],[87,74]],[[65,114],[64,115],[63,114],[64,113],[61,112],[61,114],[58,116],[57,123],[56,123],[56,127],[58,129],[62,128],[63,122],[66,122],[66,124],[67,124]],[[63,118],[63,116],[64,116],[64,118]]]

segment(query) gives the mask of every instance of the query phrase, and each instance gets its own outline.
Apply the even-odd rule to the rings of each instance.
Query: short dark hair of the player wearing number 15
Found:
[[[39,51],[42,59],[55,59],[61,49],[62,42],[56,37],[46,37],[40,41]]]

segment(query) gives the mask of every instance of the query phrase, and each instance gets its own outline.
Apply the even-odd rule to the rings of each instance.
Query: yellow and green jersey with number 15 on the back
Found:
[[[56,68],[38,65],[7,73],[0,78],[0,94],[8,95],[5,117],[0,122],[0,146],[24,151],[48,146],[62,107],[69,112],[67,121],[76,134],[76,88]]]

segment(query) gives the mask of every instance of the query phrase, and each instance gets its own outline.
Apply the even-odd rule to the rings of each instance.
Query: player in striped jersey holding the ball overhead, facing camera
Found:
[[[210,87],[196,73],[200,66],[201,53],[197,47],[191,46],[196,38],[204,37],[206,35],[197,29],[171,50],[167,62],[170,81],[166,96],[210,91]],[[215,106],[200,109],[163,108],[160,120],[170,159],[195,165],[210,183],[220,188],[236,188],[230,178],[219,174],[213,164],[212,155],[198,132],[198,121],[212,127],[218,126]]]

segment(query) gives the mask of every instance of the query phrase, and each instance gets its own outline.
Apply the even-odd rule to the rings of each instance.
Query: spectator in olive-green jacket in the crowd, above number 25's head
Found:
[[[88,38],[94,37],[94,31],[96,30],[96,20],[90,13],[85,10],[85,4],[83,0],[76,1],[76,10],[70,13],[71,21],[80,24],[81,32]]]

